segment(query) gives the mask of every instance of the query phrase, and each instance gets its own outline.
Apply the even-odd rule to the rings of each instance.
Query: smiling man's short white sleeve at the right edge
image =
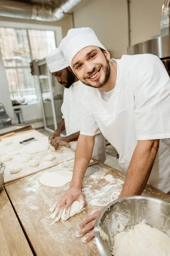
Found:
[[[157,56],[139,62],[133,90],[136,139],[170,138],[170,77]]]

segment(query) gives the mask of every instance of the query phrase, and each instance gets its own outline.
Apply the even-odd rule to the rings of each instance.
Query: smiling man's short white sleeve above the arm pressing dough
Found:
[[[94,136],[99,133],[100,130],[91,109],[89,96],[88,93],[86,93],[82,98],[82,125],[80,134]]]

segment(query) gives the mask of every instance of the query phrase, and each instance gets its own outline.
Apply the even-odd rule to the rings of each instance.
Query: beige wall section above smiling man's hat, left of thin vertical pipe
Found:
[[[127,1],[89,0],[74,12],[76,28],[91,27],[101,43],[119,58],[126,54],[128,46]]]

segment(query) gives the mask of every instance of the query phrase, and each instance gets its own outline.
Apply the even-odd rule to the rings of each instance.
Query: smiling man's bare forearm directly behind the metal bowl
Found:
[[[149,179],[158,148],[159,140],[138,141],[119,198],[142,194]]]

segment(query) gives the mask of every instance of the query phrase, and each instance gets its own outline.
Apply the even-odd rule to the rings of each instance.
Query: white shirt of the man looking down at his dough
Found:
[[[64,89],[63,103],[61,107],[62,118],[65,122],[66,136],[80,131],[82,123],[82,97],[85,94],[85,85],[77,81],[70,88]],[[77,141],[70,143],[72,149],[76,150]],[[96,160],[104,163],[106,158],[105,137],[100,131],[96,133],[93,155]]]

